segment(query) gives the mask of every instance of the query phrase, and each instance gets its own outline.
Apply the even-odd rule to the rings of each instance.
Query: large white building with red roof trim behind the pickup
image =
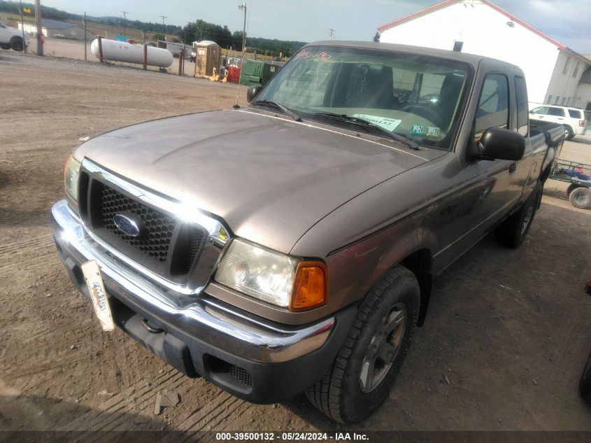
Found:
[[[590,60],[488,0],[446,0],[378,31],[385,43],[455,48],[513,63],[525,73],[529,101],[591,108],[591,88],[581,83]]]

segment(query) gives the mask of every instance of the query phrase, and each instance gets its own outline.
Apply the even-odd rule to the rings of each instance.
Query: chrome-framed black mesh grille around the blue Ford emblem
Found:
[[[211,279],[222,248],[232,237],[221,220],[157,191],[127,181],[84,159],[78,209],[86,230],[113,258],[177,293],[197,294]],[[175,214],[183,213],[183,219]],[[137,237],[122,232],[113,218],[129,218]],[[124,229],[124,228],[122,228]]]

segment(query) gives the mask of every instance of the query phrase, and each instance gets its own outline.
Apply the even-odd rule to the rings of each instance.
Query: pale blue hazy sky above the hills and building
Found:
[[[338,40],[369,41],[376,28],[439,3],[437,0],[41,0],[71,13],[121,16],[129,20],[184,26],[197,19],[243,27],[247,5],[247,35],[281,40],[326,40],[329,29]],[[591,0],[493,0],[555,40],[591,54]],[[248,45],[248,43],[247,43]]]

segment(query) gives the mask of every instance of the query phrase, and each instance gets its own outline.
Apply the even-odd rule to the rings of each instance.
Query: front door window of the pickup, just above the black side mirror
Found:
[[[509,120],[508,80],[503,74],[486,76],[476,109],[474,134],[482,135],[490,127],[507,127]]]

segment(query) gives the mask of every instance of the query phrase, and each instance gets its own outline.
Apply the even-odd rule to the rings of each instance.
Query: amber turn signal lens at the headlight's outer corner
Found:
[[[290,309],[310,309],[323,304],[327,295],[327,271],[322,262],[299,262]]]

